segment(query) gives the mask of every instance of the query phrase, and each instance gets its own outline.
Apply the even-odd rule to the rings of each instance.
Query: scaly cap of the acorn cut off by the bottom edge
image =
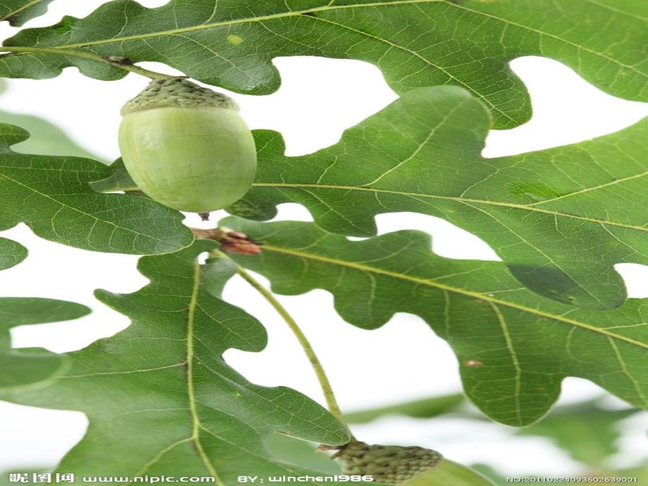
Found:
[[[354,441],[339,449],[333,458],[342,462],[344,474],[372,475],[375,482],[401,485],[435,467],[443,456],[423,447],[369,445]]]

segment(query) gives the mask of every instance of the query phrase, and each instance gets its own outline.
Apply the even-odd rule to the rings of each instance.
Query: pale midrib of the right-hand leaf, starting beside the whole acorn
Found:
[[[485,204],[489,206],[503,206],[506,208],[516,208],[523,209],[525,211],[534,211],[536,213],[546,213],[552,214],[554,216],[562,216],[564,218],[573,218],[578,220],[590,221],[591,223],[598,223],[602,225],[611,225],[611,226],[620,226],[621,228],[629,228],[631,230],[640,230],[648,231],[648,228],[637,225],[628,225],[625,223],[616,223],[615,221],[601,220],[597,218],[588,218],[587,216],[578,216],[575,214],[561,213],[559,211],[550,211],[549,209],[542,209],[533,206],[528,206],[525,204],[515,204],[515,203],[506,203],[500,201],[488,201],[485,199],[471,199],[466,197],[456,197],[456,196],[440,196],[438,194],[423,194],[418,192],[405,192],[405,191],[394,191],[390,189],[376,189],[374,187],[359,187],[359,186],[344,186],[344,185],[326,185],[326,184],[313,184],[310,182],[255,182],[253,187],[285,187],[287,189],[339,189],[344,191],[365,191],[365,192],[375,192],[375,193],[384,193],[384,194],[395,194],[397,196],[406,196],[406,197],[425,197],[429,199],[442,199],[445,201],[455,201],[460,203],[473,203],[473,204]]]

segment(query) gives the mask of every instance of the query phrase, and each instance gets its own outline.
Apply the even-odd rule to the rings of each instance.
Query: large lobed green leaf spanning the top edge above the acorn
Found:
[[[375,64],[399,93],[461,86],[497,128],[530,118],[509,68],[520,56],[555,58],[615,96],[646,99],[642,0],[171,0],[144,8],[108,2],[79,19],[24,30],[5,46],[0,75],[54,77],[67,66],[101,80],[126,74],[109,56],[158,61],[235,92],[269,94],[278,56]]]

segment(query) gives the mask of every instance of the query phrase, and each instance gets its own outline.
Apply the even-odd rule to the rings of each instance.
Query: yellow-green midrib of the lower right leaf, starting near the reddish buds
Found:
[[[299,251],[299,250],[294,250],[294,249],[286,249],[282,247],[275,247],[272,244],[263,244],[263,251],[275,251],[277,253],[281,254],[288,254],[288,255],[293,255],[293,256],[299,256],[301,258],[307,258],[311,260],[316,260],[316,261],[322,261],[324,263],[331,263],[332,265],[337,265],[337,266],[342,266],[342,267],[348,267],[348,268],[354,268],[355,270],[360,270],[366,273],[376,273],[379,275],[385,275],[387,277],[391,278],[397,278],[400,280],[409,280],[410,282],[415,282],[420,285],[427,285],[428,287],[435,287],[437,289],[441,290],[446,290],[447,292],[453,292],[455,294],[460,294],[464,295],[466,297],[473,297],[475,299],[480,299],[482,301],[489,302],[491,304],[499,304],[501,306],[506,306],[510,307],[512,309],[518,309],[519,311],[524,311],[528,312],[531,314],[535,314],[536,316],[540,316],[543,318],[548,318],[548,319],[553,319],[553,320],[558,320],[563,323],[575,325],[578,328],[582,329],[587,329],[592,332],[597,332],[598,334],[605,335],[608,337],[613,337],[615,339],[619,339],[621,341],[628,342],[630,344],[635,344],[639,347],[644,347],[648,348],[648,343],[644,343],[641,341],[637,341],[636,339],[633,339],[631,337],[625,337],[622,335],[617,335],[613,332],[609,332],[608,330],[604,328],[597,328],[594,325],[590,325],[587,323],[582,323],[579,320],[571,319],[571,318],[566,318],[564,316],[559,316],[556,314],[540,311],[540,309],[533,309],[531,307],[523,306],[522,304],[516,304],[515,302],[510,302],[506,301],[503,299],[497,299],[497,297],[491,297],[488,294],[483,294],[481,292],[473,292],[472,290],[466,290],[466,289],[461,289],[460,287],[454,287],[452,285],[447,285],[447,284],[442,284],[440,282],[436,282],[435,280],[430,280],[427,278],[419,278],[419,277],[413,277],[411,275],[406,275],[404,273],[398,273],[398,272],[392,272],[391,270],[384,270],[382,268],[376,268],[373,266],[368,266],[363,263],[356,263],[356,262],[351,262],[351,261],[344,261],[344,260],[339,260],[338,258],[332,258],[329,256],[322,256],[322,255],[316,255],[316,254],[310,254],[306,253],[304,251]]]

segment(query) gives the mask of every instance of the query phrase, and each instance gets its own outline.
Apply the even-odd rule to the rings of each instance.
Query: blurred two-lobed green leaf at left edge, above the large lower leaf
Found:
[[[0,297],[0,391],[48,383],[68,364],[65,356],[45,349],[11,349],[9,329],[85,316],[86,306],[37,297]]]

